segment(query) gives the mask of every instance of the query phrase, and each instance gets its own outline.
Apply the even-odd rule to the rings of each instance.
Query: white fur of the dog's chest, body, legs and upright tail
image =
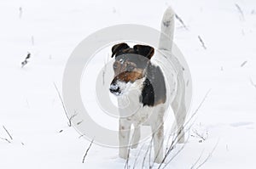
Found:
[[[119,156],[121,158],[127,158],[128,147],[137,148],[137,144],[140,140],[140,126],[148,125],[152,130],[152,137],[154,141],[154,161],[160,163],[163,160],[163,142],[164,142],[164,115],[168,106],[171,104],[172,110],[174,111],[176,122],[177,122],[177,134],[178,142],[183,143],[184,132],[183,123],[186,117],[186,109],[184,106],[184,81],[183,81],[183,68],[179,64],[178,60],[172,56],[172,38],[174,30],[174,15],[172,8],[167,8],[164,14],[160,36],[160,51],[163,51],[165,57],[162,55],[155,54],[152,62],[160,65],[162,69],[167,69],[169,72],[166,78],[166,103],[158,104],[153,107],[143,106],[139,103],[139,96],[142,92],[144,79],[137,80],[129,87],[125,86],[125,99],[130,100],[129,106],[125,109],[119,109],[119,114],[122,116],[119,119]],[[166,35],[171,39],[166,39]],[[165,63],[171,63],[173,69],[170,70],[170,65]],[[166,72],[166,71],[165,71]],[[168,84],[168,85],[167,85]],[[123,84],[122,84],[123,85]],[[127,98],[126,98],[127,97]],[[119,105],[124,104],[126,101],[124,97],[119,97]],[[132,112],[132,114],[131,114]],[[134,133],[132,134],[130,144],[130,130],[131,125],[134,125]]]

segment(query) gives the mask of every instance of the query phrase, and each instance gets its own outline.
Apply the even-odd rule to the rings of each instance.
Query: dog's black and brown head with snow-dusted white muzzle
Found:
[[[146,45],[119,43],[112,48],[114,77],[110,84],[110,92],[119,96],[129,91],[129,87],[145,76],[148,61],[154,55],[154,48]]]

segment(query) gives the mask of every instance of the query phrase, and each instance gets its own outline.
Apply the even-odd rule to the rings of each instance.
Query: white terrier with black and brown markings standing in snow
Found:
[[[140,127],[148,125],[151,127],[154,143],[154,162],[163,161],[164,116],[170,104],[177,123],[177,142],[184,142],[183,125],[186,109],[183,94],[185,87],[183,67],[177,59],[170,56],[174,16],[172,8],[167,8],[161,22],[161,32],[170,38],[171,42],[160,37],[158,48],[174,63],[174,68],[170,68],[171,75],[164,75],[161,66],[154,63],[154,60],[160,59],[160,56],[155,54],[153,47],[143,44],[130,47],[127,43],[121,42],[112,48],[114,77],[109,90],[118,98],[119,104],[125,102],[124,98],[130,100],[128,107],[119,109],[121,116],[119,118],[119,157],[121,158],[128,158],[128,145],[133,149],[137,148],[141,137]],[[130,110],[133,110],[132,114],[128,113]],[[134,127],[132,138],[130,137],[131,125]]]

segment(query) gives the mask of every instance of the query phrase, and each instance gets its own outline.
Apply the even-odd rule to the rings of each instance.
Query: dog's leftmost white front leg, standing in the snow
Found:
[[[130,140],[131,122],[119,119],[119,157],[127,159]]]

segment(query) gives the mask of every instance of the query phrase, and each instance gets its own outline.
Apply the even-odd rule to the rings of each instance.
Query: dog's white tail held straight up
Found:
[[[166,9],[161,22],[159,49],[172,51],[175,13],[171,7]]]

